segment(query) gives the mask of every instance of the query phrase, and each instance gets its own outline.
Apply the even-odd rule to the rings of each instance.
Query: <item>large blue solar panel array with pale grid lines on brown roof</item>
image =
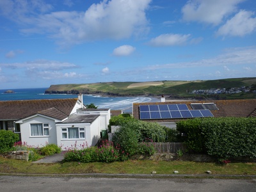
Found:
[[[209,109],[189,110],[186,104],[141,105],[140,119],[196,118],[213,116]]]

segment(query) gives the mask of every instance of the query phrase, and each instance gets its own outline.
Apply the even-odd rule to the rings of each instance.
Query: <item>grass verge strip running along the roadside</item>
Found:
[[[210,170],[214,175],[255,175],[256,163],[197,163],[192,161],[152,161],[129,160],[114,163],[32,163],[0,157],[0,173],[26,174],[80,174],[80,173],[112,173],[112,174],[179,174],[207,175]]]

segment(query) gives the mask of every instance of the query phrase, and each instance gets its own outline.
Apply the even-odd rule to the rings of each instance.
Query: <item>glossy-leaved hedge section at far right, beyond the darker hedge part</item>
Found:
[[[211,118],[202,122],[211,156],[256,157],[256,118]]]

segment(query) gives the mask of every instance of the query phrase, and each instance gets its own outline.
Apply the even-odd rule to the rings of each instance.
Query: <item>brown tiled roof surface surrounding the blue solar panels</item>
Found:
[[[236,100],[187,100],[175,102],[148,102],[148,103],[134,103],[132,114],[134,118],[140,119],[140,105],[152,104],[186,104],[189,110],[192,110],[191,103],[211,103],[216,104],[219,110],[213,110],[214,117],[256,117],[256,99],[236,99]],[[147,120],[150,122],[177,122],[180,119],[161,119],[161,120]]]

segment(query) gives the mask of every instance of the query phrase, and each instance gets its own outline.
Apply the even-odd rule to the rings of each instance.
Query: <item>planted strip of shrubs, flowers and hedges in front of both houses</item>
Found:
[[[102,140],[97,146],[83,147],[74,143],[64,154],[64,162],[112,163],[134,159],[136,155],[152,156],[156,153],[156,142],[180,142],[186,151],[176,154],[206,154],[216,163],[255,162],[256,119],[255,118],[195,118],[177,122],[177,130],[157,123],[143,122],[124,114],[109,120],[118,125],[111,141]],[[12,150],[29,150],[29,161],[60,153],[63,148],[54,144],[28,146],[20,143],[19,136],[12,131],[0,131],[0,154]]]

